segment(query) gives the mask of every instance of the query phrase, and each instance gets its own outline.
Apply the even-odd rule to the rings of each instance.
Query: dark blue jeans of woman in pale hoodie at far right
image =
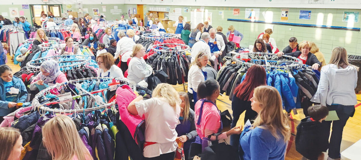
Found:
[[[327,105],[327,108],[329,110],[335,110],[337,113],[337,116],[340,120],[334,120],[334,121],[325,121],[328,129],[328,135],[330,136],[330,128],[331,128],[331,122],[332,123],[332,132],[331,132],[331,138],[330,138],[330,145],[329,145],[329,157],[332,159],[338,159],[341,157],[340,154],[340,146],[342,141],[342,132],[343,127],[345,127],[346,122],[350,116],[353,116],[355,113],[355,106],[345,106],[345,105]]]

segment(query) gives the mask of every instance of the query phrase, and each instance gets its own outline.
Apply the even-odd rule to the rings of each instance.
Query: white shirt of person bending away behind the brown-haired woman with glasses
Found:
[[[117,59],[119,55],[122,56],[122,61],[126,62],[128,58],[130,58],[130,55],[133,52],[133,46],[135,45],[135,42],[132,38],[129,37],[122,37],[117,42],[117,50],[114,55],[114,59]]]

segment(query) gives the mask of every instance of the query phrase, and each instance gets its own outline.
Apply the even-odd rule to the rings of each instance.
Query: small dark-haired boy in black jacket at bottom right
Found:
[[[317,160],[322,152],[329,148],[327,129],[322,120],[329,114],[326,106],[314,105],[308,108],[310,116],[301,120],[297,126],[296,151],[304,156],[304,159]]]

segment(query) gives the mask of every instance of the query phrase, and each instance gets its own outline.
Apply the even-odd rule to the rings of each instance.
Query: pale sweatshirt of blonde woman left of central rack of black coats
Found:
[[[145,63],[145,60],[138,57],[133,57],[129,62],[128,79],[135,83],[143,81],[144,78],[151,76],[153,69],[150,65]]]

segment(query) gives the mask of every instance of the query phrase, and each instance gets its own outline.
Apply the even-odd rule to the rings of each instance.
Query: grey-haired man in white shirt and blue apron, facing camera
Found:
[[[225,49],[226,45],[223,41],[223,37],[221,35],[217,34],[217,31],[215,28],[209,29],[209,42],[208,45],[210,47],[211,55],[216,56],[216,59],[214,59],[214,69],[218,70],[218,56],[219,53],[222,54],[223,50]]]

